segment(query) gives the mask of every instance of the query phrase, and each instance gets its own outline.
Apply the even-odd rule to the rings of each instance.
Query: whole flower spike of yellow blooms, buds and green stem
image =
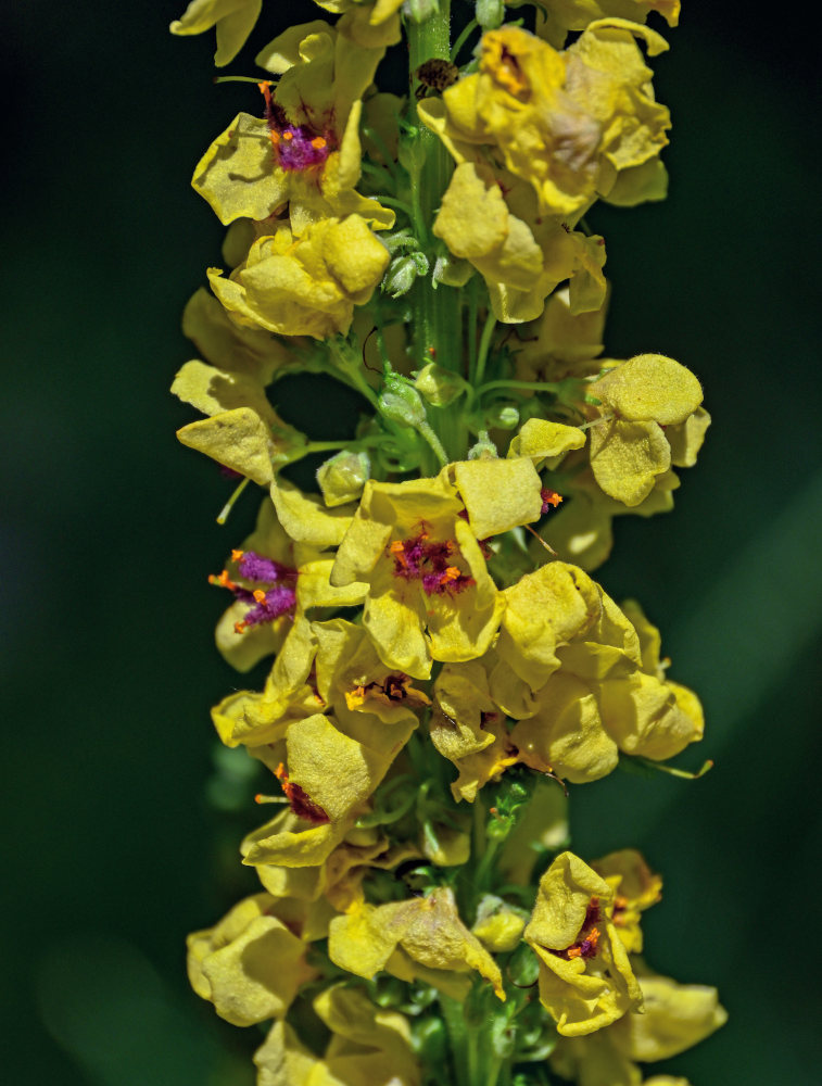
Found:
[[[228,267],[186,307],[173,392],[203,417],[179,438],[239,481],[220,521],[262,490],[208,580],[217,648],[267,674],[212,716],[276,813],[241,844],[262,889],[189,938],[191,984],[273,1022],[258,1086],[636,1086],[724,1021],[640,957],[643,857],[568,850],[577,785],[704,731],[641,606],[590,576],[614,516],[671,507],[710,421],[679,362],[603,357],[585,218],[665,195],[646,20],[679,2],[546,0],[527,29],[460,0],[453,48],[447,0],[317,2],[192,180]],[[216,27],[222,66],[261,5],[192,0],[172,30]],[[375,80],[403,35],[400,98]],[[354,437],[275,409],[300,372],[361,394]]]

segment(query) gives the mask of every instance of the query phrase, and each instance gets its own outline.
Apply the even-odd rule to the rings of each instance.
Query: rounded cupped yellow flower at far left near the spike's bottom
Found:
[[[287,913],[287,922],[278,911]],[[294,912],[269,894],[255,894],[214,927],[189,935],[194,992],[233,1025],[282,1018],[301,985],[316,975],[305,963],[305,943],[294,934],[302,929],[300,912],[305,910]]]

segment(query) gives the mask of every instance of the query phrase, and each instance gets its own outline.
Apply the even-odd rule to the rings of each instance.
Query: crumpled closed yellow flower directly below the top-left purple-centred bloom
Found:
[[[258,238],[228,279],[208,269],[212,289],[243,325],[325,339],[351,327],[388,267],[389,252],[359,215],[326,218],[295,238],[281,223]]]

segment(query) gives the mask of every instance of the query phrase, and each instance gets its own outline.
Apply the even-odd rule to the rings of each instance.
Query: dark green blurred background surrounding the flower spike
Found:
[[[184,971],[185,934],[254,887],[236,847],[261,821],[233,809],[242,768],[220,765],[207,715],[238,677],[213,648],[225,601],[205,578],[255,503],[214,522],[231,484],[178,446],[193,414],[166,392],[189,357],[181,308],[219,262],[191,169],[258,103],[213,86],[213,34],[168,35],[184,7],[27,0],[4,17],[9,1082],[245,1086],[258,1043]],[[320,14],[288,9],[253,46]],[[662,628],[707,711],[685,761],[717,765],[574,791],[574,848],[646,853],[666,875],[649,961],[716,984],[730,1010],[671,1068],[696,1086],[802,1086],[822,1057],[822,102],[801,30],[687,2],[668,37],[670,198],[591,222],[615,283],[608,352],[685,363],[714,421],[675,510],[620,518],[598,579]],[[230,71],[253,74],[254,51]]]

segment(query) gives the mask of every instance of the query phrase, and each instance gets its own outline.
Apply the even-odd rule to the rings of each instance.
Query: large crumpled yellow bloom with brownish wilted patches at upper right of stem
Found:
[[[458,163],[490,151],[495,166],[533,188],[541,214],[576,220],[597,197],[659,199],[670,118],[634,37],[652,55],[668,48],[620,18],[592,23],[561,53],[504,26],[483,36],[479,72],[420,103],[419,114]]]

